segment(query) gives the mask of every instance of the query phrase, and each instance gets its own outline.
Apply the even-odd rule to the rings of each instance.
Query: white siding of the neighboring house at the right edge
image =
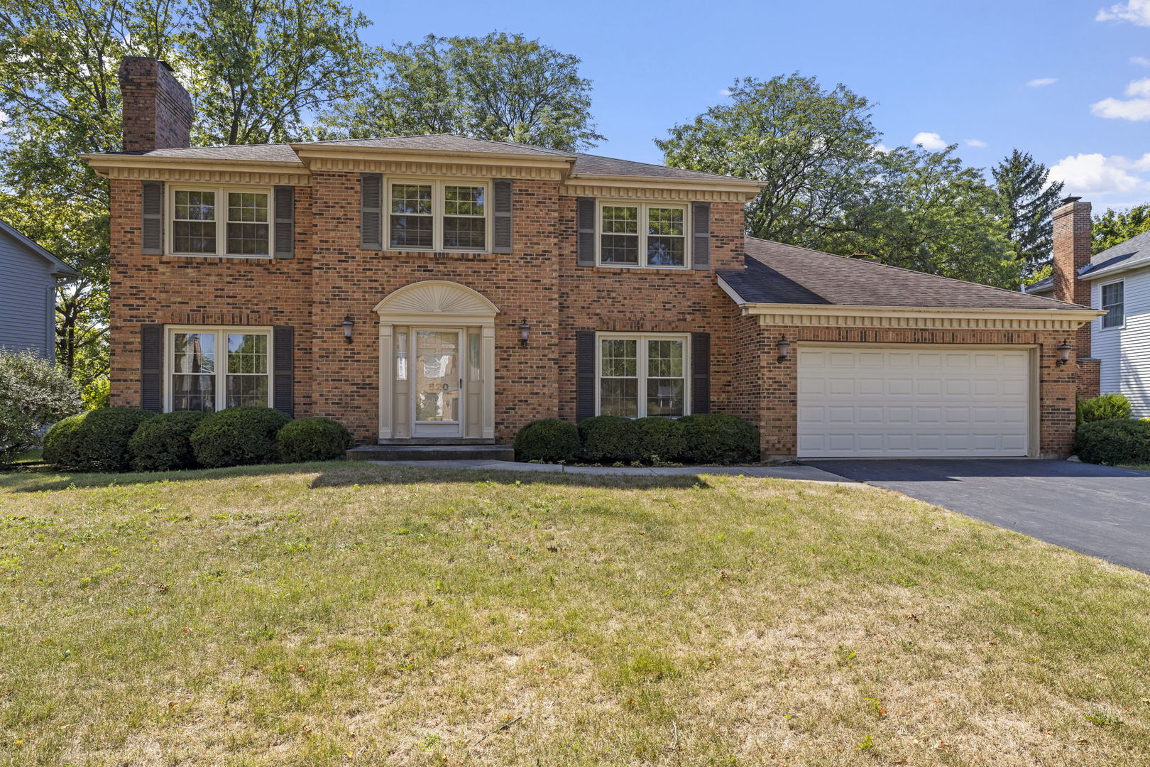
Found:
[[[1118,392],[1130,400],[1134,417],[1150,417],[1150,268],[1128,271],[1090,284],[1090,306],[1102,308],[1102,286],[1121,279],[1126,324],[1103,328],[1090,323],[1091,356],[1101,360],[1102,393]]]

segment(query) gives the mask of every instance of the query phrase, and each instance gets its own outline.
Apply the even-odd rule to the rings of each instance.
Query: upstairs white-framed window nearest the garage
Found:
[[[690,266],[685,205],[599,200],[596,221],[599,266],[653,269]]]

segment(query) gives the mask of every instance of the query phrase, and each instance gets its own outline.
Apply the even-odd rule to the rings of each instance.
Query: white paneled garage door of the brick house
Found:
[[[800,348],[798,454],[1026,455],[1029,378],[1026,350]]]

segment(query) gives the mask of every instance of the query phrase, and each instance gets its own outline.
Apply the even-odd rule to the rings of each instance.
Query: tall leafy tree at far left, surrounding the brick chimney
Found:
[[[171,62],[201,141],[285,140],[367,79],[366,23],[336,0],[0,0],[0,217],[83,275],[57,301],[80,383],[106,370],[108,186],[79,155],[122,147],[120,60]]]

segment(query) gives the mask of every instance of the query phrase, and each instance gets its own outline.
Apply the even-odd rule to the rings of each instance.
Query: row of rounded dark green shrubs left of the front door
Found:
[[[103,407],[59,421],[44,460],[70,471],[171,471],[340,458],[352,437],[330,419],[297,419],[270,407],[155,414]]]

